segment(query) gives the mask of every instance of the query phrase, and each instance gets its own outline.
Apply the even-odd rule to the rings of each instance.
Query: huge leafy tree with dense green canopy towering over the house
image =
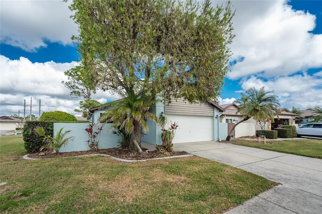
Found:
[[[124,97],[140,92],[144,102],[157,94],[189,102],[220,94],[234,37],[230,2],[213,8],[209,0],[77,0],[70,9],[83,66],[101,89]]]

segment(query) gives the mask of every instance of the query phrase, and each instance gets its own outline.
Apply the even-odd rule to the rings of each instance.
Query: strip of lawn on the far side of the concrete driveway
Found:
[[[266,144],[257,143],[257,140],[236,139],[231,141],[233,144],[249,146],[260,149],[283,152],[294,155],[301,155],[312,158],[322,159],[322,140],[315,139],[292,139],[283,141],[267,140]]]

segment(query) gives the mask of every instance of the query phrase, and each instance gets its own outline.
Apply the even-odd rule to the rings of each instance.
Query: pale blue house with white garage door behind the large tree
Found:
[[[106,110],[99,110],[97,106],[90,110],[89,115],[93,122],[97,122]],[[168,118],[166,129],[171,122],[178,123],[173,143],[212,141],[220,138],[219,115],[224,111],[218,104],[209,103],[191,104],[183,99],[173,99],[170,103],[156,103],[150,112],[159,117],[164,114]],[[162,144],[161,127],[152,121],[147,121],[149,131],[141,139],[151,144]]]

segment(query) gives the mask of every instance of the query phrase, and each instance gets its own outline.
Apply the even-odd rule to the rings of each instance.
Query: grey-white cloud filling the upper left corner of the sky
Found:
[[[71,44],[78,35],[68,5],[58,1],[1,1],[1,42],[26,51],[46,47],[43,40]]]

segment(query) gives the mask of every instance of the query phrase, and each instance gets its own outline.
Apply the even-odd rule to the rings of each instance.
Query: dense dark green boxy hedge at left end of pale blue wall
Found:
[[[48,136],[54,135],[54,123],[48,121],[27,121],[23,129],[23,138],[25,149],[29,153],[38,152],[40,147],[44,146],[44,138],[35,132],[35,128],[43,127]]]

